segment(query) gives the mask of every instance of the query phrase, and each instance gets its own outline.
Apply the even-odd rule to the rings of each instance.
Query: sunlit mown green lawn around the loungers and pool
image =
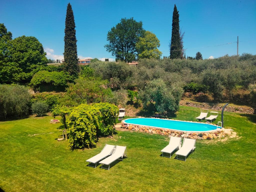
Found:
[[[200,109],[181,106],[174,117],[194,120]],[[161,157],[168,138],[118,131],[97,148],[70,151],[61,124],[51,117],[0,122],[0,187],[4,191],[255,191],[256,117],[225,112],[224,124],[238,138],[197,141],[187,161]],[[58,119],[58,118],[57,118]],[[219,121],[217,119],[215,122]],[[38,134],[38,135],[34,135]],[[108,144],[127,146],[123,162],[110,170],[88,167],[86,159]]]

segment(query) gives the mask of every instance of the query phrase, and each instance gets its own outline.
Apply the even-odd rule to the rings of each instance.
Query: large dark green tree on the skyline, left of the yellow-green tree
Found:
[[[121,22],[108,32],[109,44],[104,47],[116,57],[116,60],[131,62],[136,57],[136,43],[144,34],[141,21],[136,22],[133,17],[122,18]]]

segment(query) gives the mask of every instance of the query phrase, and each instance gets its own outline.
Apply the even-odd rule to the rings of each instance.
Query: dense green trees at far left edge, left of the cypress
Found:
[[[46,53],[35,37],[12,34],[0,25],[0,83],[28,82],[33,74],[47,67]]]

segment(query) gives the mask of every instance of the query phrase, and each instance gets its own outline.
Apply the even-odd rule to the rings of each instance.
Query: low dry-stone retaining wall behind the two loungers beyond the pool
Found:
[[[203,109],[210,109],[210,110],[216,110],[216,111],[221,111],[222,110],[222,105],[219,104],[207,104],[207,103],[202,103],[202,104],[197,104],[193,102],[187,102],[181,100],[180,105],[185,105],[185,106],[191,106],[191,107],[196,107],[196,108],[203,108]],[[232,106],[226,106],[224,111],[229,111],[229,112],[235,112],[235,113],[247,113],[247,114],[253,114],[254,109],[251,107],[232,107]]]

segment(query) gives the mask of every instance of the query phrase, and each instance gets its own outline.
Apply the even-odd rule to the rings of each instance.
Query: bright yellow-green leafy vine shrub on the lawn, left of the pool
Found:
[[[69,147],[95,147],[99,128],[103,136],[113,135],[117,114],[118,107],[110,103],[81,104],[75,107],[68,116]]]

